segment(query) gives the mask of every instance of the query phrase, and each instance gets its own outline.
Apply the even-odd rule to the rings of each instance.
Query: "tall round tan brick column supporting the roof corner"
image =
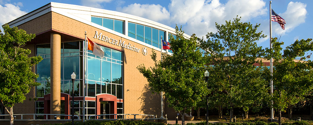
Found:
[[[50,113],[60,114],[61,112],[61,36],[58,33],[50,34]],[[54,119],[51,115],[50,119]],[[60,116],[57,116],[60,119]]]

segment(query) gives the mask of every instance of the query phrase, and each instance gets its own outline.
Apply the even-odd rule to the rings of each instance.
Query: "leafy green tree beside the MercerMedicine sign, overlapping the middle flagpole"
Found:
[[[197,37],[193,34],[186,38],[183,33],[181,28],[176,27],[177,38],[170,38],[172,56],[163,53],[160,62],[153,51],[151,58],[155,66],[145,68],[144,64],[141,64],[137,67],[147,78],[152,92],[164,92],[168,106],[182,116],[182,125],[185,124],[185,112],[195,107],[208,90],[203,80],[204,61],[198,48]]]

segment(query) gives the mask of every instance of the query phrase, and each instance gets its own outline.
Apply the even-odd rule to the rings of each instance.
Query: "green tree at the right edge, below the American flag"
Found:
[[[309,94],[313,87],[313,63],[307,60],[305,52],[313,50],[312,39],[296,40],[281,53],[283,42],[272,38],[273,48],[266,48],[266,58],[273,58],[273,107],[279,111],[279,125],[281,111],[298,103]],[[300,60],[295,60],[300,59]],[[307,60],[307,61],[304,61]]]

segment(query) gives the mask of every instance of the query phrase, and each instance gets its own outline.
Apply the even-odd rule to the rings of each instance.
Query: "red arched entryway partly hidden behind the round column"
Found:
[[[69,115],[69,94],[61,93],[61,100],[64,100],[64,114]],[[50,94],[44,95],[44,114],[50,114]],[[50,116],[48,115],[48,119]],[[44,115],[44,119],[46,116]],[[69,119],[69,116],[65,116],[64,119]]]

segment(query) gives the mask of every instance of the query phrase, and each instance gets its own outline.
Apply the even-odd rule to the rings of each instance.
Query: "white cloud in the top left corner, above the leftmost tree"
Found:
[[[4,6],[0,5],[0,25],[2,26],[24,14],[26,14],[26,12],[21,11],[19,6],[8,3]],[[2,27],[1,31],[3,31]]]

